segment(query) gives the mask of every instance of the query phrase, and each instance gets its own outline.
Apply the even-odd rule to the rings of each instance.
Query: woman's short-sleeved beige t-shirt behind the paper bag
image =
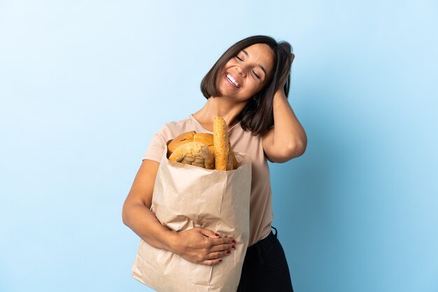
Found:
[[[181,133],[196,131],[197,133],[213,133],[190,115],[178,122],[169,122],[153,136],[143,159],[160,163],[168,140]],[[250,155],[252,163],[252,182],[250,198],[250,239],[249,245],[266,238],[271,231],[273,219],[271,202],[271,177],[267,156],[264,155],[262,137],[252,136],[250,131],[243,131],[240,122],[228,131],[232,150]]]

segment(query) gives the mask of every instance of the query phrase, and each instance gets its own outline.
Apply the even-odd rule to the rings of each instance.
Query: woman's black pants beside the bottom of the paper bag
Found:
[[[274,230],[246,250],[237,292],[293,292],[288,262]]]

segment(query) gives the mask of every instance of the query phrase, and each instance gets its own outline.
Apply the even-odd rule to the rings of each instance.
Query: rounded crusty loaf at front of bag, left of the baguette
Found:
[[[180,145],[169,156],[169,161],[176,161],[199,166],[206,169],[214,169],[214,155],[209,147],[200,142],[189,142]]]

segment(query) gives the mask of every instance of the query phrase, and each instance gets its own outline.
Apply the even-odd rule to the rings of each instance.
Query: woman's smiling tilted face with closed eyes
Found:
[[[247,101],[271,78],[275,55],[269,45],[256,43],[239,51],[227,61],[218,75],[222,96],[234,101]]]

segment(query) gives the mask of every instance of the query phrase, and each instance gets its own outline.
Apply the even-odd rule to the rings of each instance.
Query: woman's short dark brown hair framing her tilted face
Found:
[[[292,65],[290,53],[292,52],[292,46],[286,41],[277,42],[270,36],[250,36],[244,38],[229,47],[220,56],[201,82],[201,92],[205,98],[209,99],[210,96],[219,96],[220,92],[217,85],[220,70],[222,70],[229,59],[235,57],[244,48],[256,43],[269,45],[274,52],[275,59],[274,72],[271,74],[271,79],[260,89],[260,92],[257,92],[249,99],[248,104],[237,117],[241,121],[242,129],[253,132],[253,136],[263,135],[274,126],[272,103],[276,90],[283,82],[285,82],[285,95],[286,97],[289,95],[290,66]]]

